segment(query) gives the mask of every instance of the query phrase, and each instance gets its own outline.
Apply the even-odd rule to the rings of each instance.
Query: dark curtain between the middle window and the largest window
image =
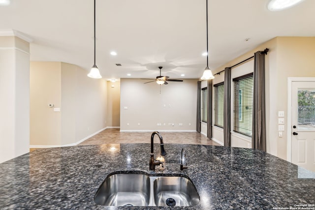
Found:
[[[224,147],[231,147],[231,68],[224,69],[224,107],[223,107]]]

